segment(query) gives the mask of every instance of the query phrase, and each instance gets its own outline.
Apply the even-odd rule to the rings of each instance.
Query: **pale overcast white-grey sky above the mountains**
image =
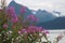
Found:
[[[12,0],[6,0],[9,4]],[[28,6],[31,10],[58,11],[65,15],[65,0],[15,0],[17,3]]]

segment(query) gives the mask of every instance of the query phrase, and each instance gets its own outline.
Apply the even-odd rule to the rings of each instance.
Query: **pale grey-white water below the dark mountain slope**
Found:
[[[63,31],[65,30],[49,30],[50,34],[48,34],[48,39],[53,43],[55,41],[55,38],[62,33],[63,38],[58,43],[65,43],[65,33]]]

